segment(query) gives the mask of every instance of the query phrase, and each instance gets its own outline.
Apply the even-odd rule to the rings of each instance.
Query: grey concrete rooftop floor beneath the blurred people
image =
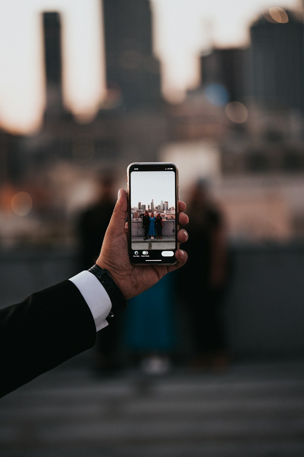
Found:
[[[84,353],[0,399],[0,456],[303,457],[304,361],[97,376]]]

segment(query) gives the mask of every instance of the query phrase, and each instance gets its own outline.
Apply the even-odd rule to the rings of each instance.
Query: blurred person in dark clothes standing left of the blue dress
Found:
[[[97,184],[97,198],[80,214],[77,226],[81,269],[90,268],[97,259],[116,202],[116,179],[112,171],[101,172]],[[119,369],[119,332],[118,318],[110,319],[104,331],[97,334],[93,358],[96,373],[106,374]]]

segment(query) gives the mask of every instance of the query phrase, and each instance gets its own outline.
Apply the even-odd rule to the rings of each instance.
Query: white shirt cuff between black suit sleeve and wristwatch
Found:
[[[96,325],[96,331],[108,325],[106,317],[112,308],[111,300],[103,287],[89,271],[81,271],[69,279],[79,289],[82,297],[88,304]]]

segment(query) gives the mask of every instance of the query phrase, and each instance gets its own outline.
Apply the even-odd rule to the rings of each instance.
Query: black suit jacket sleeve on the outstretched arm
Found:
[[[63,281],[0,310],[0,397],[89,349],[96,341],[90,308]]]

